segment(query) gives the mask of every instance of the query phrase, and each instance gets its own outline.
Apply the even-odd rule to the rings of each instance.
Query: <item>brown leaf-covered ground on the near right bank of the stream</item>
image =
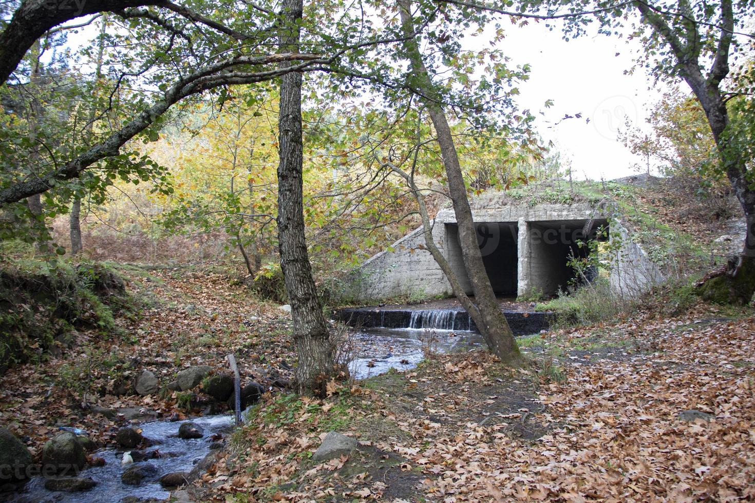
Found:
[[[525,341],[546,370],[445,355],[327,400],[269,397],[205,484],[236,501],[752,499],[755,320],[717,315]],[[309,461],[337,418],[360,451]]]

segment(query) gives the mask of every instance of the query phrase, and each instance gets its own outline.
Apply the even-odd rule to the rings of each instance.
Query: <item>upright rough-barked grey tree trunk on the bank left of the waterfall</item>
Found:
[[[284,0],[286,26],[281,51],[296,52],[302,0]],[[288,63],[282,63],[287,66]],[[298,355],[296,380],[301,394],[325,394],[334,371],[334,354],[322,314],[304,238],[302,202],[301,73],[281,78],[279,105],[278,240],[283,281],[291,302]]]

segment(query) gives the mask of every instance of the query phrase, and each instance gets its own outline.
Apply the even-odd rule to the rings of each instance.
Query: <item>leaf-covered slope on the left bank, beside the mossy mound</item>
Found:
[[[124,418],[201,411],[205,397],[199,395],[190,411],[179,406],[175,392],[135,394],[132,384],[142,370],[152,370],[165,386],[190,365],[225,370],[225,357],[233,352],[247,379],[285,385],[291,377],[284,363],[294,358],[285,335],[289,317],[234,285],[233,272],[188,267],[122,272],[143,305],[138,317],[117,319],[119,333],[110,338],[78,333],[76,345],[61,357],[14,367],[0,377],[0,424],[23,438],[35,455],[59,426],[82,428],[106,445]],[[106,417],[98,407],[116,416]]]

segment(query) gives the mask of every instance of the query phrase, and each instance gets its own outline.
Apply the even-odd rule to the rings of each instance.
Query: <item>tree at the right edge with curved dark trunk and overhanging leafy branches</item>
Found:
[[[649,2],[633,0],[525,0],[519,8],[485,2],[443,0],[478,12],[515,19],[565,20],[565,35],[584,34],[593,21],[606,35],[629,35],[640,42],[637,66],[659,81],[685,82],[705,112],[716,146],[718,169],[725,173],[747,222],[744,248],[721,275],[711,278],[702,293],[720,302],[747,303],[755,292],[755,104],[749,66],[738,60],[752,48],[755,34],[747,23],[753,0],[688,0]],[[513,5],[513,4],[510,4]]]

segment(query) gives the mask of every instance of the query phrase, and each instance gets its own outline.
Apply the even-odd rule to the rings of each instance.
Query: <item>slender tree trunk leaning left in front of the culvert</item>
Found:
[[[521,358],[521,354],[519,354],[519,347],[516,345],[516,340],[506,317],[501,311],[501,306],[498,305],[498,300],[495,298],[495,293],[490,285],[490,278],[488,278],[488,273],[485,271],[485,265],[482,262],[482,253],[480,253],[477,242],[472,209],[467,199],[467,186],[464,185],[464,176],[461,173],[461,164],[456,153],[453,136],[451,136],[451,128],[448,126],[442,106],[427,98],[434,94],[433,85],[414,36],[411,2],[399,0],[399,11],[401,12],[404,35],[408,37],[404,41],[404,48],[408,54],[411,69],[418,78],[418,88],[424,94],[422,101],[427,106],[427,111],[438,137],[443,167],[445,167],[448,178],[448,192],[451,195],[459,228],[461,256],[464,259],[464,268],[467,270],[476,308],[479,310],[479,317],[482,321],[482,324],[477,324],[477,328],[482,333],[490,351],[501,358],[502,361],[514,363]]]

